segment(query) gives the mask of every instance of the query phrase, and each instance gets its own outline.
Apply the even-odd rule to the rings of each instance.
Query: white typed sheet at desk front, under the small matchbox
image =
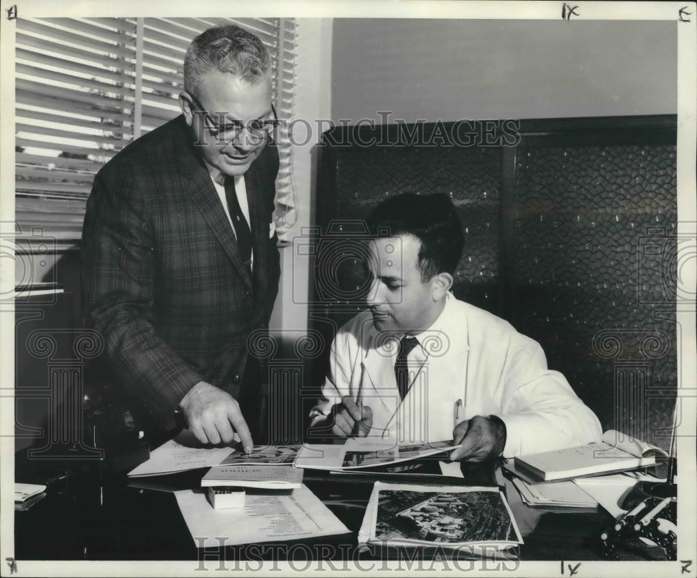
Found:
[[[348,528],[302,485],[288,494],[247,492],[244,508],[214,510],[204,489],[174,492],[197,547],[250,544],[348,533]],[[199,538],[199,539],[197,539]]]

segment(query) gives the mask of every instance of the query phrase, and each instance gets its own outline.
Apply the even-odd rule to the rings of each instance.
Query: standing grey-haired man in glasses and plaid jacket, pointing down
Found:
[[[182,113],[95,177],[82,234],[83,307],[119,392],[153,431],[177,413],[204,443],[250,449],[259,360],[278,290],[278,153],[266,47],[238,26],[194,38]]]

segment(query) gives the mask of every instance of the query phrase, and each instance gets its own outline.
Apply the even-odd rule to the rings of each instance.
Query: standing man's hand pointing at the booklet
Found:
[[[199,381],[179,404],[184,411],[189,429],[201,443],[229,443],[235,432],[240,436],[245,453],[254,443],[240,404],[229,393]]]

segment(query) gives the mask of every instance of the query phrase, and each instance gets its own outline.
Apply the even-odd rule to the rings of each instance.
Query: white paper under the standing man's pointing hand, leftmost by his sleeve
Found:
[[[232,446],[204,446],[188,429],[150,453],[150,459],[132,469],[128,476],[158,476],[165,473],[217,466],[233,452]]]

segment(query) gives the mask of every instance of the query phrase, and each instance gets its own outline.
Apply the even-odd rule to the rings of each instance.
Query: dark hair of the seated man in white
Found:
[[[372,236],[412,235],[421,241],[419,269],[427,282],[457,268],[464,234],[450,197],[405,193],[381,202],[367,220]]]

